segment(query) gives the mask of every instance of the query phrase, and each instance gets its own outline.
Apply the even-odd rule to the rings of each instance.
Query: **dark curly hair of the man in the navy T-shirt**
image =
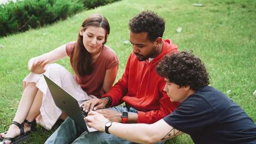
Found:
[[[165,59],[158,63],[156,71],[170,82],[180,87],[189,85],[192,90],[209,84],[209,74],[204,64],[192,51],[166,55]]]

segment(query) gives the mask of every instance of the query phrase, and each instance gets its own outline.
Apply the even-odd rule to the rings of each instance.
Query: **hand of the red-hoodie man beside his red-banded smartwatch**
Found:
[[[106,117],[109,121],[112,122],[122,122],[121,113],[110,110],[110,109],[99,109],[96,112],[102,114],[104,117]]]

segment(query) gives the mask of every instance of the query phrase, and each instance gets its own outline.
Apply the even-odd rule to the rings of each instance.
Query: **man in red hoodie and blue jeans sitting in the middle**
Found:
[[[102,96],[91,99],[80,106],[85,112],[96,110],[110,121],[122,123],[152,124],[172,113],[179,105],[171,102],[163,90],[164,78],[156,71],[156,65],[166,54],[178,51],[177,45],[162,38],[165,21],[152,11],[142,11],[129,21],[130,43],[133,53],[128,57],[125,72],[121,79]],[[122,104],[125,102],[125,106]],[[102,109],[106,108],[106,109]],[[106,129],[109,126],[106,125]],[[63,130],[68,129],[69,133]],[[72,135],[70,135],[72,134]],[[59,143],[60,140],[74,143],[91,142],[104,144],[127,144],[124,139],[102,132],[82,130],[71,118],[55,131],[46,144]]]

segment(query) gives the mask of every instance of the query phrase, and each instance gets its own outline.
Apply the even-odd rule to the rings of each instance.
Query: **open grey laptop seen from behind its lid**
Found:
[[[84,121],[84,117],[87,116],[87,113],[82,110],[82,107],[79,107],[78,101],[46,75],[44,75],[44,77],[54,99],[55,105],[87,132],[97,131],[96,129],[88,126]]]

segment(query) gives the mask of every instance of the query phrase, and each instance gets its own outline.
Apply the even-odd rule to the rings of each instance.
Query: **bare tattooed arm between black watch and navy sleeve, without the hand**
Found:
[[[154,124],[121,124],[113,122],[110,134],[136,143],[156,143],[183,134],[165,123],[163,119]]]

